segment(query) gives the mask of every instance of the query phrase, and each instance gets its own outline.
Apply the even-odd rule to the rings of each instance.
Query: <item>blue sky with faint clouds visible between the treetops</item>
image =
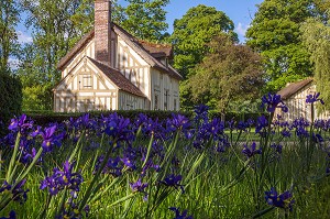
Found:
[[[124,3],[124,0],[119,0],[119,3]],[[198,4],[215,7],[219,11],[223,11],[235,25],[235,32],[239,34],[240,42],[244,42],[244,34],[249,28],[255,11],[256,4],[263,0],[170,0],[166,7],[168,32],[173,32],[173,23],[175,19],[180,19],[190,8]],[[22,14],[22,17],[24,17]],[[23,19],[23,18],[22,18]],[[21,23],[18,29],[20,43],[32,42],[31,31]]]

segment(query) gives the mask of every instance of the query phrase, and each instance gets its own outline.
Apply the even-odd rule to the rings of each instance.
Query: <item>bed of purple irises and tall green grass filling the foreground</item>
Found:
[[[276,120],[277,97],[262,100],[268,119],[246,122],[210,119],[206,106],[190,120],[85,114],[37,127],[25,116],[12,119],[0,139],[0,213],[327,218],[330,121]]]

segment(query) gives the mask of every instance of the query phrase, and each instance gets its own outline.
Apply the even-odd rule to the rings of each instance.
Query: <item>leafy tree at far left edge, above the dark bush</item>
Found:
[[[19,15],[19,6],[15,0],[0,1],[0,72],[7,72],[9,57],[14,56],[19,51],[15,32],[15,26],[20,21]]]

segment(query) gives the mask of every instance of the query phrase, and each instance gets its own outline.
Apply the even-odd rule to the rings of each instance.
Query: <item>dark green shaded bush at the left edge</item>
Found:
[[[1,120],[4,124],[22,110],[22,84],[9,73],[0,72],[0,130]],[[2,131],[0,131],[0,134]]]

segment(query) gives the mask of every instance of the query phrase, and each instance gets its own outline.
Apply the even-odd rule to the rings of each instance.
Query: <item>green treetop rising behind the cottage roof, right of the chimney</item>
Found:
[[[168,35],[166,30],[166,7],[169,0],[127,0],[129,6],[120,8],[123,14],[120,21],[122,28],[134,36],[151,41],[164,41]]]

